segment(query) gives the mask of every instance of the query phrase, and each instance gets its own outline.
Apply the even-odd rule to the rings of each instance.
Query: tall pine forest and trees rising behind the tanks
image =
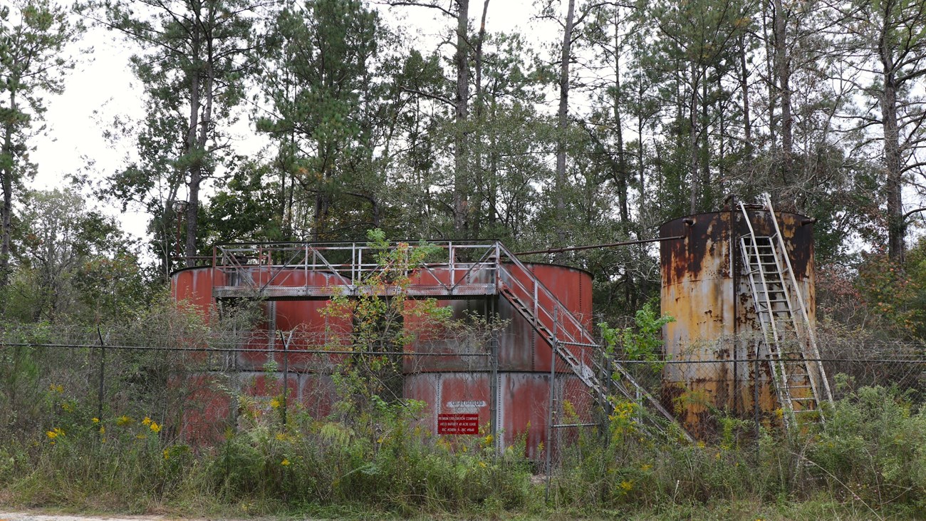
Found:
[[[926,3],[524,4],[542,37],[494,31],[494,8],[4,6],[3,316],[118,322],[222,242],[363,240],[381,228],[567,247],[650,238],[727,195],[767,191],[777,209],[817,219],[822,323],[922,335]],[[436,36],[419,37],[409,16],[432,20]],[[131,50],[144,95],[84,132],[131,149],[118,168],[91,158],[33,190],[44,112],[80,59],[65,50],[100,28]],[[244,126],[266,146],[236,139]],[[142,212],[144,238],[107,206]],[[594,273],[607,320],[657,296],[655,248],[546,259]]]

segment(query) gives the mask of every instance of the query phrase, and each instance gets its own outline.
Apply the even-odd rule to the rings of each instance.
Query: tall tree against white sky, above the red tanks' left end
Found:
[[[144,2],[89,0],[78,10],[116,30],[140,51],[131,69],[144,85],[144,121],[134,134],[138,159],[107,179],[101,192],[152,217],[153,250],[167,276],[183,216],[187,265],[205,234],[199,191],[235,159],[225,145],[233,109],[244,100],[244,78],[255,67],[257,5],[244,0]],[[127,124],[119,118],[117,129]],[[131,131],[134,129],[125,129]],[[185,197],[181,191],[185,188]],[[185,200],[184,200],[185,199]],[[185,204],[183,204],[185,203]]]

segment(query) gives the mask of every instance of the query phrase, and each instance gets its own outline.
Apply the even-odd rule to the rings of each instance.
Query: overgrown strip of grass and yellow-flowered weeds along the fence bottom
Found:
[[[564,446],[544,500],[523,445],[434,436],[423,404],[349,393],[335,413],[243,397],[212,447],[171,438],[143,412],[94,418],[51,388],[44,423],[4,431],[0,505],[171,517],[498,519],[926,518],[926,413],[890,388],[845,393],[797,435],[720,418],[717,438],[644,436],[615,413],[607,436]],[[58,398],[56,398],[58,397]],[[619,408],[619,410],[621,410]],[[628,410],[632,410],[629,408]]]

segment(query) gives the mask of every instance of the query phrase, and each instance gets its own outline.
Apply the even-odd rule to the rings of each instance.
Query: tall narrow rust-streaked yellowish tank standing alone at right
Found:
[[[746,205],[756,235],[773,235],[769,211]],[[787,255],[815,320],[813,220],[775,212]],[[716,426],[709,408],[773,418],[779,407],[769,353],[744,273],[740,237],[749,233],[740,210],[699,213],[666,222],[660,237],[662,313],[675,319],[663,328],[666,359],[662,401],[695,435]],[[745,362],[746,360],[758,360]],[[709,362],[706,362],[709,361]]]

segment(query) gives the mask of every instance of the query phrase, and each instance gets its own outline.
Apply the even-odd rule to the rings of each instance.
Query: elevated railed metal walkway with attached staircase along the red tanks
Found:
[[[412,283],[403,290],[410,299],[472,299],[500,295],[550,345],[554,356],[565,361],[590,388],[596,400],[608,406],[608,386],[628,400],[643,404],[675,423],[669,413],[617,362],[620,375],[603,380],[607,371],[589,356],[600,349],[582,322],[500,242],[444,241],[433,244],[442,253],[419,265],[408,266]],[[445,257],[443,257],[445,255]],[[376,250],[363,243],[282,242],[220,245],[213,254],[212,293],[217,300],[331,299],[340,295],[388,296],[393,286],[369,286],[369,274],[382,270]],[[682,428],[689,440],[690,435]]]

